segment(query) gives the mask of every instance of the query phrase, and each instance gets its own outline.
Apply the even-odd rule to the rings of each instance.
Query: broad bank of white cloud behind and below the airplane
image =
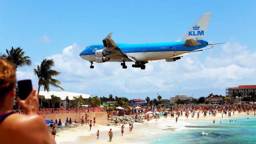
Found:
[[[199,97],[213,91],[225,95],[226,87],[255,84],[256,52],[246,48],[230,40],[209,51],[189,53],[176,62],[146,64],[146,70],[132,68],[132,63],[122,69],[118,62],[94,63],[90,69],[90,63],[79,56],[84,47],[77,44],[47,58],[54,59],[54,69],[61,72],[56,79],[66,91],[98,96],[115,92],[128,98],[155,97],[158,92],[169,98],[187,92]]]

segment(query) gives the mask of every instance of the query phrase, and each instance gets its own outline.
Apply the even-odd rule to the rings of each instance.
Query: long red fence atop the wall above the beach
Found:
[[[13,110],[13,112],[25,114],[23,110]],[[106,108],[44,108],[37,110],[37,114],[66,114],[78,112],[106,112]]]

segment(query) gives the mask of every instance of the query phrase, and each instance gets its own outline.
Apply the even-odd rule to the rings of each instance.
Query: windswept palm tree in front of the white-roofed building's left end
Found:
[[[38,94],[41,86],[44,86],[44,91],[47,92],[50,91],[50,85],[64,90],[59,86],[61,84],[60,81],[52,78],[52,76],[60,74],[60,72],[52,70],[52,66],[54,66],[53,59],[44,59],[40,66],[38,65],[37,69],[34,69],[34,74],[38,76]]]

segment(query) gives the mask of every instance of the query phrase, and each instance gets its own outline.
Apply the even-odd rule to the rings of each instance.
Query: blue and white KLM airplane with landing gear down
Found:
[[[91,63],[90,68],[94,68],[93,62],[121,62],[122,68],[126,69],[126,62],[134,62],[132,67],[144,70],[145,64],[149,62],[159,60],[174,62],[188,55],[188,52],[211,49],[215,44],[225,43],[209,44],[204,40],[211,16],[212,13],[203,14],[176,42],[119,44],[112,40],[112,33],[110,33],[102,40],[103,44],[87,46],[80,53],[80,57]],[[206,46],[210,46],[210,48],[205,48]]]

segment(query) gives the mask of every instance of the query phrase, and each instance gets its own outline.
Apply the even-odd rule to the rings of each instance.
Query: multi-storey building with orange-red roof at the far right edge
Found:
[[[238,98],[238,96],[236,96],[236,98],[234,99],[232,97],[233,93],[236,93],[236,95],[237,95],[238,92],[242,93],[242,97]],[[234,102],[234,103],[238,103],[239,99],[241,101],[241,99],[244,96],[249,96],[250,92],[256,93],[256,85],[242,85],[242,86],[238,86],[238,87],[234,87],[234,88],[226,88],[226,98],[225,99],[230,100],[231,102]]]

